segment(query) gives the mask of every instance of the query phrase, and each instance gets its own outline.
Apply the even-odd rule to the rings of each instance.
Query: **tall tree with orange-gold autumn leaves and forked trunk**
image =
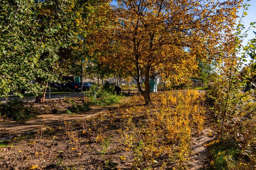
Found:
[[[197,59],[217,57],[231,37],[240,0],[117,0],[112,20],[101,30],[100,58],[124,67],[150,104],[150,75],[185,82],[197,70]],[[141,87],[141,78],[145,90]]]

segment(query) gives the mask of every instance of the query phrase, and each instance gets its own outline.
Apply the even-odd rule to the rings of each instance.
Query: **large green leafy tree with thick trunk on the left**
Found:
[[[37,95],[36,102],[42,102],[50,80],[56,82],[60,75],[76,72],[70,68],[71,63],[83,59],[75,55],[84,48],[79,35],[86,36],[83,25],[100,4],[106,2],[3,0],[0,6],[1,97],[8,97],[10,91],[22,97],[20,89],[25,88]],[[72,55],[68,56],[67,52]],[[72,56],[76,58],[71,62]],[[36,82],[30,83],[32,80]]]

